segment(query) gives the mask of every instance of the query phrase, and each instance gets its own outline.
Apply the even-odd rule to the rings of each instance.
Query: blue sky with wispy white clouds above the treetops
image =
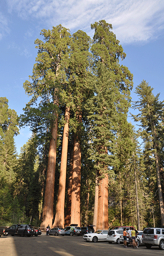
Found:
[[[71,34],[81,29],[92,37],[91,24],[102,19],[112,24],[126,53],[121,64],[134,75],[132,101],[137,100],[134,91],[143,79],[164,100],[163,0],[1,0],[0,97],[9,100],[9,108],[20,115],[30,100],[23,83],[32,75],[37,56],[34,41],[43,40],[43,28],[61,24]],[[15,137],[18,153],[30,136],[25,128]]]

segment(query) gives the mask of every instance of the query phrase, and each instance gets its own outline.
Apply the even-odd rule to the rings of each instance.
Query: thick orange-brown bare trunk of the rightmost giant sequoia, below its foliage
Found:
[[[99,182],[97,229],[108,229],[108,174]]]

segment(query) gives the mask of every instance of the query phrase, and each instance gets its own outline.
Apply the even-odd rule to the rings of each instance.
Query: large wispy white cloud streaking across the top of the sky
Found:
[[[62,24],[92,34],[90,24],[105,19],[122,42],[146,42],[164,29],[163,0],[6,0],[8,11],[42,24]],[[72,32],[72,31],[71,31]]]

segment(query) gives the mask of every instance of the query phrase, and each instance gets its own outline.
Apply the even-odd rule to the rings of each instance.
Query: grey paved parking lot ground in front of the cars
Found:
[[[154,246],[146,249],[124,248],[123,244],[85,242],[81,236],[19,237],[1,236],[0,256],[164,256],[164,251]]]

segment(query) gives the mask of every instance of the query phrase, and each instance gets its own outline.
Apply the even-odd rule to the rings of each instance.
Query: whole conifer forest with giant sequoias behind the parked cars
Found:
[[[91,30],[41,30],[24,114],[0,98],[0,225],[164,225],[164,101],[142,80],[132,102],[112,25]],[[32,137],[18,155],[25,126]]]

